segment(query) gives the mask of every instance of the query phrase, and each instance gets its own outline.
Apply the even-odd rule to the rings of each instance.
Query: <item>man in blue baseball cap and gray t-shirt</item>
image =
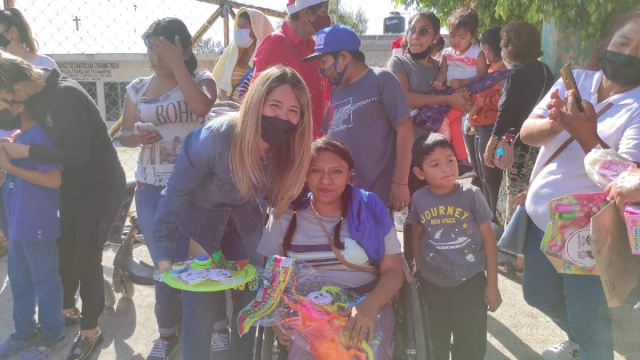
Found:
[[[388,70],[370,68],[360,38],[334,25],[316,34],[320,74],[334,88],[322,131],[343,140],[356,164],[355,185],[378,195],[392,210],[409,205],[413,124],[404,91]]]

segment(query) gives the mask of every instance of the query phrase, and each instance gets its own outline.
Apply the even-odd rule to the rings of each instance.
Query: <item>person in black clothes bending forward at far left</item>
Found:
[[[78,288],[82,299],[81,318],[73,314],[80,322],[80,334],[67,359],[86,359],[102,341],[98,328],[104,310],[102,247],[124,195],[124,171],[98,107],[77,82],[57,70],[1,55],[2,98],[25,102],[55,145],[51,149],[14,142],[2,143],[2,149],[11,159],[62,164],[64,169],[58,240],[64,308],[74,308]]]

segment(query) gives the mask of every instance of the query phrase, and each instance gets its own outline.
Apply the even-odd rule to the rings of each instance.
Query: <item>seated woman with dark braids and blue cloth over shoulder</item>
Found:
[[[391,359],[394,314],[390,301],[403,283],[393,220],[376,195],[350,184],[354,162],[342,141],[318,139],[311,152],[305,189],[283,216],[269,219],[258,252],[304,261],[327,284],[366,295],[348,310],[349,344],[371,342],[377,322],[382,338],[375,358]],[[288,334],[277,327],[274,331],[288,347],[290,360],[313,359]]]

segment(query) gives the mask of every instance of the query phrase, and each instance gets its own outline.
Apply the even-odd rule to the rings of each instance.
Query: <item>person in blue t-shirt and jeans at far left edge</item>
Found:
[[[16,142],[51,147],[44,129],[24,104],[0,100],[0,130],[20,129]],[[28,349],[21,359],[44,359],[63,348],[62,282],[58,272],[61,166],[10,160],[0,150],[6,172],[2,195],[8,225],[8,273],[16,332],[0,344],[0,359]],[[38,304],[38,321],[35,306]],[[38,329],[38,324],[40,329]]]

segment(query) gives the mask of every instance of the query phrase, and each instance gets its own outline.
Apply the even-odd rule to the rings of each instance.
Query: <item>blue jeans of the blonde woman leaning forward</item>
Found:
[[[230,224],[233,224],[232,222]],[[256,252],[262,232],[243,240],[235,228],[228,225],[225,230],[220,250],[229,260],[250,259],[251,264],[262,267],[263,257]],[[208,252],[218,250],[216,244],[200,245]],[[232,291],[233,317],[231,319],[231,359],[252,359],[255,341],[255,328],[240,337],[236,318],[256,293],[249,291]],[[182,294],[182,358],[209,359],[211,354],[211,333],[216,321],[226,318],[225,293],[196,293],[185,291]]]

